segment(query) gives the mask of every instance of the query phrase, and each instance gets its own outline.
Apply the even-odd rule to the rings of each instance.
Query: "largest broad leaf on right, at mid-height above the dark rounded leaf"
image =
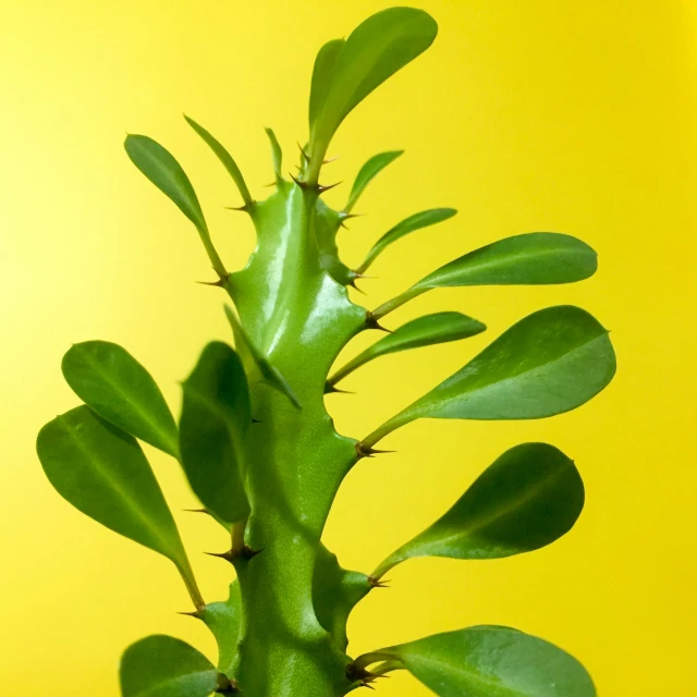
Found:
[[[455,375],[368,436],[370,447],[417,418],[543,418],[580,406],[612,379],[608,330],[572,305],[528,315]]]

